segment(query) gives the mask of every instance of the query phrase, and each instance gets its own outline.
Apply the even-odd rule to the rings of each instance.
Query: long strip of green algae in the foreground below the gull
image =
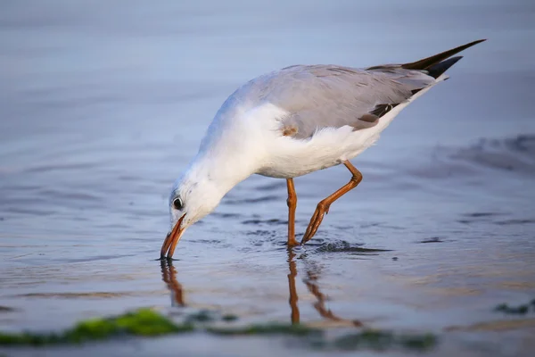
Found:
[[[125,336],[152,337],[194,331],[204,331],[215,336],[292,336],[300,338],[305,347],[321,350],[383,351],[396,348],[427,350],[437,343],[437,337],[430,334],[398,335],[391,331],[367,329],[327,339],[323,329],[310,328],[302,324],[275,322],[245,326],[217,324],[218,321],[229,324],[235,320],[238,320],[238,317],[232,314],[221,316],[214,311],[202,310],[186,315],[182,323],[175,323],[151,309],[139,309],[110,318],[81,321],[62,333],[0,332],[0,345],[81,344]]]

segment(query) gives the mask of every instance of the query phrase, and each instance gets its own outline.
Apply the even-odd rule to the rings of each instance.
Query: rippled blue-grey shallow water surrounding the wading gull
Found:
[[[154,306],[432,331],[440,355],[534,347],[534,314],[492,311],[535,297],[532,4],[2,8],[1,330],[60,329]],[[172,267],[154,261],[171,183],[235,87],[290,64],[409,62],[481,37],[490,40],[353,161],[363,182],[333,204],[305,248],[284,246],[284,180],[254,176],[188,229]],[[337,167],[295,180],[300,235],[316,203],[348,179]],[[80,353],[165,354],[177,345],[192,355],[309,353],[284,338],[204,335]]]

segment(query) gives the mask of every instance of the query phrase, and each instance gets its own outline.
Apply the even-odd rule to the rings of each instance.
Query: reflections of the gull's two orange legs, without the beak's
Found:
[[[288,274],[288,286],[290,289],[290,308],[292,310],[291,319],[292,324],[300,323],[300,311],[299,311],[299,296],[297,295],[297,289],[295,288],[295,277],[297,277],[297,265],[295,263],[295,253],[292,249],[288,250],[288,266],[290,269],[290,274]],[[306,278],[303,278],[303,282],[309,288],[310,294],[314,295],[317,299],[314,303],[314,308],[319,313],[321,317],[326,320],[334,321],[337,325],[342,326],[353,326],[361,327],[362,322],[359,320],[348,320],[342,319],[341,317],[335,315],[333,311],[325,307],[325,302],[327,301],[327,296],[324,295],[317,285],[317,280],[319,278],[320,270],[313,266],[311,263],[305,261],[306,266]],[[324,325],[324,324],[322,324]]]

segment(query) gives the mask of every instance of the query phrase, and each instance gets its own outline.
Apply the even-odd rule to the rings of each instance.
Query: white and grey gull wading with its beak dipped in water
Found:
[[[350,160],[374,145],[403,108],[448,79],[444,72],[462,58],[453,55],[482,41],[404,64],[293,65],[239,87],[219,108],[198,153],[175,181],[161,259],[166,253],[172,259],[185,229],[252,174],[286,179],[288,247],[308,242],[331,204],[362,180]],[[350,181],[317,203],[298,243],[293,179],[339,164],[350,170]]]

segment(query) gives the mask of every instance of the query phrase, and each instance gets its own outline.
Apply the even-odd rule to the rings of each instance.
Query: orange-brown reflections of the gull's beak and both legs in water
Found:
[[[288,288],[290,291],[290,309],[292,324],[300,323],[300,311],[299,311],[299,296],[297,295],[297,289],[295,285],[295,278],[297,277],[297,264],[295,262],[296,254],[293,253],[292,249],[288,250],[288,266],[290,273],[288,274]],[[321,317],[329,322],[333,322],[337,326],[352,326],[352,327],[361,327],[362,322],[358,320],[348,320],[342,319],[341,317],[335,315],[333,311],[325,307],[325,302],[327,301],[327,296],[324,295],[317,284],[319,279],[320,270],[317,266],[314,266],[312,262],[307,262],[303,259],[305,263],[306,278],[303,278],[303,282],[308,287],[310,294],[316,297],[316,302],[314,303],[314,308],[319,313]],[[173,266],[173,263],[169,260],[161,261],[161,279],[167,284],[169,292],[171,293],[171,305],[172,306],[185,306],[184,301],[184,290],[182,285],[177,280],[177,270]],[[317,324],[317,323],[316,323]],[[325,326],[325,322],[321,322],[317,325]]]

